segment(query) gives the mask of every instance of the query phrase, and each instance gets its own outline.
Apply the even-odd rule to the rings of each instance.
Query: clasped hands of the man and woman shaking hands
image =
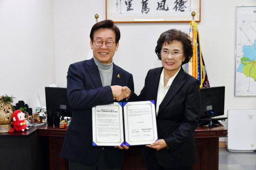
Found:
[[[124,98],[129,98],[132,91],[127,86],[110,86],[113,93],[114,100],[120,101]]]

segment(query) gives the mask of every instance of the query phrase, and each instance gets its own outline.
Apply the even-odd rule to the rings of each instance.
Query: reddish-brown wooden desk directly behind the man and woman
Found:
[[[68,160],[59,157],[66,130],[47,125],[38,129],[40,136],[48,138],[49,170],[69,170]],[[197,163],[193,170],[219,169],[219,137],[227,137],[227,131],[222,124],[214,128],[197,127],[194,132]],[[125,150],[122,170],[146,170],[146,163],[141,157],[141,146]]]

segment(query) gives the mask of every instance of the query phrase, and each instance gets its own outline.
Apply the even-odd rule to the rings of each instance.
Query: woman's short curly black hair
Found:
[[[164,43],[171,44],[174,40],[181,42],[185,56],[185,60],[181,65],[186,64],[193,56],[192,41],[190,36],[188,36],[185,32],[181,32],[180,30],[171,29],[163,32],[158,38],[155,53],[159,60],[161,60],[160,51],[162,50]]]

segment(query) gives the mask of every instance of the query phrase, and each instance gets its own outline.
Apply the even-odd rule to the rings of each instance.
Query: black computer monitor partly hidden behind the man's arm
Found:
[[[58,125],[61,118],[72,117],[67,88],[45,87],[45,99],[48,118],[50,118],[49,125]]]

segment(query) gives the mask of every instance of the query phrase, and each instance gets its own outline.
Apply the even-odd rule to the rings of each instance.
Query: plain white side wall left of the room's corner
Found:
[[[53,26],[52,0],[0,0],[0,95],[14,104],[35,110],[55,82]]]

